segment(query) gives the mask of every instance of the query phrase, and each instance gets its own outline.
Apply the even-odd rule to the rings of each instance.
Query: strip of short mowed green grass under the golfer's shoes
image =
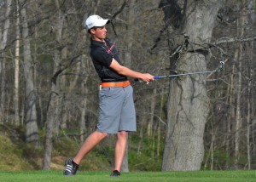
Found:
[[[194,172],[130,172],[119,178],[109,177],[109,172],[78,172],[63,176],[61,171],[0,172],[1,182],[72,182],[72,181],[142,181],[142,182],[255,182],[256,171],[194,171]]]

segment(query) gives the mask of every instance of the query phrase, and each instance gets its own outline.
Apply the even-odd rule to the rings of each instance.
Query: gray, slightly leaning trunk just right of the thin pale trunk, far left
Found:
[[[34,89],[33,80],[33,63],[31,55],[31,45],[28,35],[28,23],[26,17],[26,3],[22,7],[22,37],[23,37],[23,52],[24,52],[24,77],[26,89],[26,109],[25,109],[25,123],[26,123],[26,142],[38,145],[38,123],[36,110],[36,93]]]

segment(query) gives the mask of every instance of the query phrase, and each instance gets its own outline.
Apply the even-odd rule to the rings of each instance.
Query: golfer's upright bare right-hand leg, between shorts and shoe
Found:
[[[125,131],[118,132],[115,151],[114,151],[113,170],[118,170],[118,171],[121,170],[121,166],[125,156],[126,143],[127,143],[127,132]]]

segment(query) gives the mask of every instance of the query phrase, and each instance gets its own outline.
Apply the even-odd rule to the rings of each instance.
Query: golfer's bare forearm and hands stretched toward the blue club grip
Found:
[[[150,82],[150,81],[154,80],[154,76],[152,76],[148,73],[132,71],[131,69],[129,69],[123,65],[119,65],[119,63],[114,59],[112,60],[109,67],[111,69],[113,69],[114,71],[117,71],[120,75],[124,75],[126,77],[138,78],[140,80],[143,80],[144,82]]]

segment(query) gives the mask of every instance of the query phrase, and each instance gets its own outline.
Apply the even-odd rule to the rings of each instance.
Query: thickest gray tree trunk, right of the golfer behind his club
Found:
[[[184,9],[186,19],[181,27],[182,32],[188,35],[189,42],[210,42],[220,4],[217,0],[187,1]],[[206,70],[206,60],[206,51],[185,52],[177,60],[177,70]],[[203,135],[209,111],[205,78],[197,75],[170,81],[163,171],[201,169],[204,157]]]

